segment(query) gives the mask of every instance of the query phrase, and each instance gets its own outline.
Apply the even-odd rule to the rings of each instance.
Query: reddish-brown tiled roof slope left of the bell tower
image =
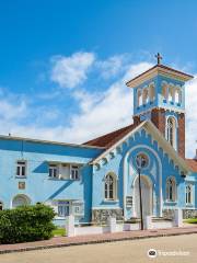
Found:
[[[137,125],[131,124],[124,128],[117,129],[113,133],[109,133],[109,134],[100,136],[95,139],[89,140],[89,141],[84,142],[83,145],[109,148],[111,146],[116,144],[119,139],[121,139],[124,136],[126,136],[128,133],[130,133],[136,127],[137,127]]]

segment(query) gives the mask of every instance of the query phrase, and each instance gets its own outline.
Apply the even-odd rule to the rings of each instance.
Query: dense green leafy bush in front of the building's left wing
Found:
[[[0,243],[49,239],[55,226],[51,207],[37,204],[0,211]]]

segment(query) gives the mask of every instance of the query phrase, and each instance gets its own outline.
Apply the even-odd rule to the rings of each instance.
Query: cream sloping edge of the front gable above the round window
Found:
[[[130,125],[131,126],[131,125]],[[175,149],[171,146],[171,144],[163,137],[163,135],[161,134],[161,132],[155,127],[155,125],[150,122],[150,121],[146,121],[143,123],[140,123],[138,126],[132,126],[132,128],[130,127],[130,130],[128,128],[129,126],[125,127],[126,129],[123,128],[123,130],[125,130],[125,134],[120,133],[120,130],[118,130],[119,136],[116,137],[115,141],[109,141],[108,147],[106,148],[105,151],[103,151],[99,157],[96,157],[94,160],[92,160],[91,164],[95,164],[97,163],[102,158],[105,158],[105,156],[107,156],[114,148],[118,147],[120,144],[123,144],[124,141],[126,141],[128,139],[129,136],[132,136],[136,132],[140,130],[140,128],[144,128],[146,130],[148,130],[148,133],[150,133],[154,140],[157,140],[159,142],[159,145],[163,148],[163,150],[170,156],[170,158],[172,160],[175,161],[176,164],[181,165],[183,168],[183,170],[185,172],[189,172],[190,171],[190,167],[188,165],[188,163],[186,162],[185,159],[181,158],[177,152],[175,151]],[[128,128],[128,129],[127,129]],[[115,132],[114,132],[115,133]],[[113,133],[112,133],[113,134]],[[107,136],[107,135],[105,135]],[[99,137],[100,139],[102,137]],[[99,139],[97,138],[97,139]],[[95,139],[96,140],[96,139]]]

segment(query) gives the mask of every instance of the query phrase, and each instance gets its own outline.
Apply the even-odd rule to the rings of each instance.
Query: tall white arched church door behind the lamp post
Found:
[[[135,192],[135,216],[140,217],[140,198],[139,198],[139,176],[136,178],[134,184]],[[152,183],[148,176],[141,175],[141,199],[142,214],[144,216],[152,215]]]

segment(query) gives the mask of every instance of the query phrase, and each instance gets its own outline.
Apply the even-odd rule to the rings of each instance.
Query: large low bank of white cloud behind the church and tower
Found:
[[[123,67],[125,68],[123,77],[106,87],[103,92],[74,89],[72,95],[77,101],[76,105],[78,105],[79,111],[69,117],[69,122],[67,121],[68,115],[63,114],[58,105],[57,111],[53,108],[53,114],[51,108],[47,111],[46,107],[45,110],[39,107],[35,111],[31,104],[22,99],[14,99],[14,96],[2,99],[5,96],[0,95],[0,133],[11,132],[18,136],[80,144],[132,123],[132,90],[127,88],[125,82],[152,65],[149,62],[124,64]],[[84,75],[86,78],[86,71]],[[188,157],[194,157],[195,140],[197,139],[197,76],[186,84],[185,89],[186,150]],[[1,93],[3,91],[0,89]],[[24,124],[20,122],[23,116],[27,118],[35,116],[35,121]],[[58,118],[59,122],[57,122]],[[56,119],[57,125],[49,126],[46,119],[51,124]]]

